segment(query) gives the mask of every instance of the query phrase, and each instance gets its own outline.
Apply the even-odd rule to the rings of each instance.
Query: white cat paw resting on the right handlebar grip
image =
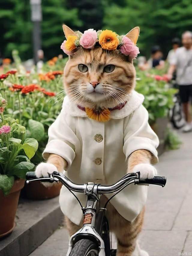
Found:
[[[133,172],[140,172],[140,179],[153,179],[157,175],[157,170],[151,164],[137,164],[133,168]]]

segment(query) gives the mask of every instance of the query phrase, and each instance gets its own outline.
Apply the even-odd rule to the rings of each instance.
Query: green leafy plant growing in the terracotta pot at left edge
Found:
[[[14,179],[25,179],[26,172],[34,169],[30,159],[38,149],[38,142],[34,138],[24,140],[25,127],[16,119],[4,119],[1,113],[0,127],[3,125],[10,128],[0,134],[0,189],[7,195]]]

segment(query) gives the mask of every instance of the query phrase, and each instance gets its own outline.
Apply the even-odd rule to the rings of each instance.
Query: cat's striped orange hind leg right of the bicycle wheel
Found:
[[[107,219],[110,231],[114,232],[117,238],[117,256],[143,256],[147,252],[140,250],[137,237],[142,229],[145,209],[140,212],[137,218],[130,222],[123,218],[119,212],[109,203],[107,206]]]

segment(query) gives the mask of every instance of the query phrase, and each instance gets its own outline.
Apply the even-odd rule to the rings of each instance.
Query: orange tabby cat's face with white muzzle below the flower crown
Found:
[[[64,68],[64,86],[76,104],[115,107],[135,86],[133,61],[119,50],[80,48]]]

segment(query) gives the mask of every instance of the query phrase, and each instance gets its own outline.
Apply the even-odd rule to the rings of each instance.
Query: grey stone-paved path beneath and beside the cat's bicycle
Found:
[[[150,256],[192,255],[192,133],[179,136],[180,149],[164,152],[157,168],[167,176],[164,188],[149,187],[140,247]],[[56,230],[30,256],[65,256],[68,235]]]

